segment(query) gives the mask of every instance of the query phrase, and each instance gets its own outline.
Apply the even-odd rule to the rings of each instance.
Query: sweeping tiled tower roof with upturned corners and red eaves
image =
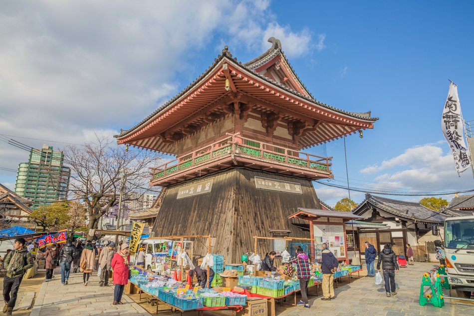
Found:
[[[286,61],[286,57],[284,56],[283,52],[281,51],[281,44],[279,43],[279,40],[277,39],[272,39],[270,38],[269,41],[271,41],[272,47],[264,52],[262,55],[258,56],[257,58],[247,62],[247,63],[241,63],[237,61],[237,58],[232,56],[232,53],[229,51],[228,47],[226,46],[222,50],[222,54],[220,54],[216,59],[214,59],[214,62],[211,66],[208,67],[208,69],[203,72],[196,80],[194,80],[191,84],[189,84],[186,88],[184,88],[180,93],[178,93],[175,97],[173,97],[171,100],[163,104],[161,107],[159,107],[157,110],[155,110],[153,113],[148,115],[146,118],[144,118],[141,122],[136,124],[134,127],[128,129],[128,130],[123,130],[121,129],[121,132],[119,135],[115,135],[118,139],[119,143],[130,143],[132,145],[137,145],[133,143],[133,140],[136,139],[142,139],[143,137],[151,137],[152,135],[157,135],[156,130],[159,129],[158,125],[162,126],[163,122],[160,122],[160,118],[163,118],[163,115],[167,117],[167,120],[170,120],[170,117],[172,115],[177,116],[177,112],[183,112],[179,111],[178,108],[184,106],[187,104],[187,102],[191,102],[193,99],[198,99],[201,97],[202,104],[209,104],[209,102],[213,102],[215,100],[218,100],[219,98],[222,98],[223,95],[219,95],[215,97],[215,100],[210,100],[210,99],[203,99],[203,95],[206,94],[205,91],[206,89],[209,90],[209,87],[215,87],[216,85],[222,84],[224,85],[224,82],[221,80],[221,78],[218,77],[219,74],[222,75],[222,68],[225,63],[229,63],[229,67],[232,67],[232,69],[236,69],[239,71],[239,74],[236,74],[236,70],[233,70],[232,73],[235,76],[235,78],[239,80],[243,80],[244,83],[246,83],[246,87],[248,88],[249,85],[248,83],[253,84],[254,86],[260,87],[264,89],[269,96],[275,96],[278,95],[283,101],[287,103],[287,106],[293,106],[293,108],[298,107],[298,110],[300,108],[304,108],[304,110],[307,112],[305,115],[309,114],[308,118],[311,118],[311,115],[316,118],[316,113],[320,112],[319,110],[316,113],[310,113],[309,111],[315,112],[316,109],[321,109],[321,113],[325,117],[328,118],[329,120],[333,120],[337,122],[339,125],[343,125],[343,128],[330,128],[330,132],[326,133],[327,135],[324,135],[324,139],[318,139],[315,140],[315,144],[326,142],[335,138],[342,137],[343,135],[351,134],[354,133],[357,130],[360,129],[365,129],[365,128],[373,128],[373,122],[378,120],[378,118],[374,118],[370,116],[370,111],[365,112],[365,113],[359,113],[359,112],[349,112],[349,111],[344,111],[342,109],[335,108],[333,106],[330,106],[328,104],[325,104],[323,102],[320,102],[316,100],[304,87],[304,85],[301,83],[299,78],[296,76],[294,73],[293,69],[291,66],[289,66],[289,75],[294,74],[295,80],[294,85],[301,87],[301,91],[297,91],[295,89],[290,88],[288,85],[283,84],[281,82],[277,82],[274,79],[271,79],[270,77],[265,76],[264,74],[259,73],[257,70],[259,70],[259,67],[265,67],[265,63],[270,63],[273,58],[277,56],[282,56],[283,61]],[[289,63],[288,63],[289,65]],[[249,77],[242,78],[242,74],[244,75],[249,75]],[[258,79],[260,82],[265,83],[264,86],[259,86],[258,80],[255,81],[251,76],[254,76],[255,79]],[[290,75],[291,77],[291,75]],[[225,79],[225,78],[224,78]],[[270,90],[270,89],[274,89]],[[247,93],[248,91],[244,91]],[[229,94],[229,92],[227,93]],[[198,103],[198,101],[196,101]],[[285,103],[285,104],[286,104]],[[295,107],[296,106],[296,107]],[[201,106],[196,106],[196,108],[202,109]],[[281,107],[285,108],[285,107]],[[176,111],[173,111],[175,110]],[[171,111],[171,112],[170,112]],[[168,112],[168,113],[167,113]],[[174,112],[174,113],[173,113]],[[189,111],[188,111],[189,112]],[[189,115],[189,114],[188,114]],[[318,117],[320,118],[320,117]],[[183,120],[183,117],[180,116],[177,118],[177,120]],[[178,123],[169,123],[169,124],[178,124]],[[168,124],[168,125],[169,125]],[[162,129],[166,129],[167,127],[163,127],[159,129],[158,134],[162,132]],[[153,131],[152,131],[153,130]],[[312,144],[312,145],[315,145]],[[137,145],[138,147],[143,147],[143,148],[149,148],[149,149],[154,149],[147,147],[143,144]],[[309,147],[310,145],[306,144],[303,147]],[[166,151],[165,151],[166,152]]]

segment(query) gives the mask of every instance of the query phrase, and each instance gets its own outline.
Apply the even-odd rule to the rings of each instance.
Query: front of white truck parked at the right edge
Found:
[[[470,299],[474,292],[474,216],[446,219],[444,246],[448,282],[459,298]]]

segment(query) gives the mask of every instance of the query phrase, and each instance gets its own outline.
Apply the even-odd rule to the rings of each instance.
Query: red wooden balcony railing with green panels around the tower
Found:
[[[235,134],[161,166],[151,168],[152,181],[233,153],[250,158],[258,158],[269,163],[317,169],[328,173],[330,173],[329,167],[331,166],[330,160],[332,159],[332,157],[320,157],[255,141],[242,137],[240,134]]]

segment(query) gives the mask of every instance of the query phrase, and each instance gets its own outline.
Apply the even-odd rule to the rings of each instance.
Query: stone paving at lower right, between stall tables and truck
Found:
[[[420,306],[420,284],[424,273],[429,272],[434,264],[415,263],[414,266],[401,268],[395,276],[397,295],[387,298],[385,288],[376,286],[374,278],[362,277],[360,280],[351,281],[335,289],[336,299],[321,301],[321,296],[310,300],[309,310],[303,307],[292,307],[277,310],[279,316],[448,316],[448,315],[474,315],[474,306],[450,303],[445,300],[445,307],[437,308],[431,305]],[[346,278],[347,279],[347,278]],[[445,290],[445,295],[449,296]],[[321,294],[321,291],[319,291]],[[459,301],[458,301],[459,302]],[[281,311],[281,312],[280,312]],[[280,313],[278,313],[280,312]]]

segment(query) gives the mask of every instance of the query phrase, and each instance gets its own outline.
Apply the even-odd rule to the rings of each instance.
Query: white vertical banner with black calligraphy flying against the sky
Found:
[[[450,84],[448,99],[443,109],[441,130],[451,147],[456,171],[458,171],[458,176],[461,177],[461,173],[471,166],[471,160],[464,142],[464,120],[458,97],[458,86],[453,82]]]

